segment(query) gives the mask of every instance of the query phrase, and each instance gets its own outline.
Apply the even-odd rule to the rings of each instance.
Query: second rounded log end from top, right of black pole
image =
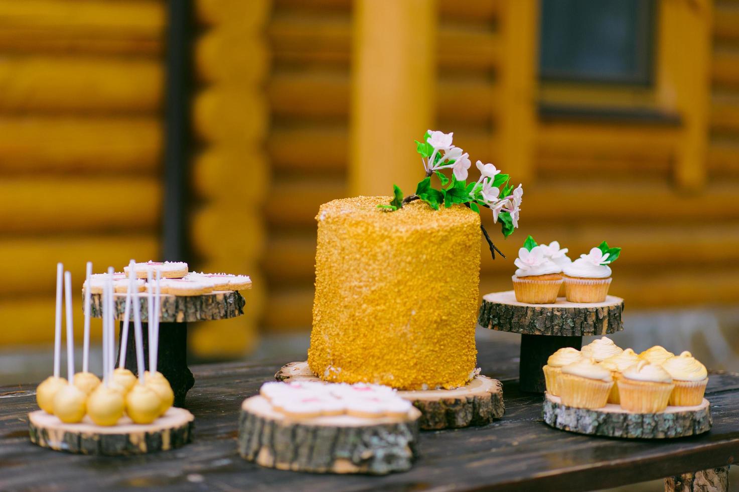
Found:
[[[270,55],[259,31],[219,25],[197,38],[195,71],[205,82],[257,84],[269,71]]]

